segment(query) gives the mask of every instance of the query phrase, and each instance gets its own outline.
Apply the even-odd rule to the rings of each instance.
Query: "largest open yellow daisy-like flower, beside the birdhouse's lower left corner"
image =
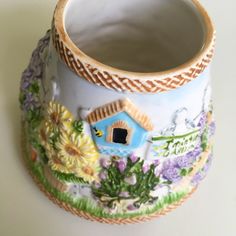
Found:
[[[81,162],[94,163],[99,158],[93,141],[85,135],[69,135],[62,132],[56,148],[58,156],[69,168],[76,168]]]

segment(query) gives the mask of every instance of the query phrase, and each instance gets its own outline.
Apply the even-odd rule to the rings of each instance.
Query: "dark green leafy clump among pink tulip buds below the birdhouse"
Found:
[[[141,204],[153,203],[157,200],[150,196],[151,191],[159,184],[160,178],[155,175],[155,166],[151,165],[144,174],[144,161],[140,158],[133,163],[130,158],[124,172],[117,167],[116,160],[112,160],[108,168],[104,168],[107,178],[101,181],[101,186],[92,187],[93,194],[106,206],[112,208],[121,200],[135,199],[134,205],[140,207]],[[135,183],[131,184],[128,178],[135,177]],[[122,193],[128,193],[127,196]]]

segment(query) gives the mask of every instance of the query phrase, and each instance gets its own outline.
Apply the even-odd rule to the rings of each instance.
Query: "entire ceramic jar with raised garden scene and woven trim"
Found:
[[[76,14],[82,3],[87,14]],[[138,11],[130,10],[131,3],[134,1],[119,1],[114,5],[101,1],[99,7],[104,14],[100,16],[91,10],[90,4],[96,4],[95,1],[59,1],[53,28],[33,52],[21,83],[24,155],[32,175],[57,204],[87,219],[106,223],[140,222],[168,212],[196,189],[212,161],[215,123],[209,63],[213,44],[210,43],[210,48],[196,59],[200,63],[191,59],[204,47],[206,32],[211,32],[209,27],[212,26],[204,23],[206,13],[194,5],[195,1],[150,0],[149,4],[143,4],[143,1],[136,0],[137,9],[144,13],[153,9],[153,14],[139,22]],[[64,30],[78,47],[100,62],[90,60],[89,56],[78,51],[75,44],[61,37],[57,11],[62,6]],[[128,10],[130,14],[126,13]],[[164,31],[156,19],[157,13],[165,22]],[[176,13],[173,17],[179,19],[174,24],[165,20],[172,13]],[[114,22],[107,28],[109,14]],[[130,23],[135,21],[140,28],[122,23],[126,19]],[[183,24],[185,19],[189,21]],[[187,39],[191,43],[186,45],[186,39],[180,37],[179,45],[173,46],[176,34],[171,32],[170,25],[175,33],[193,27],[194,33]],[[156,32],[151,32],[148,26],[155,26]],[[126,27],[128,29],[124,30]],[[118,37],[118,40],[117,36],[129,28],[134,30],[129,37]],[[151,33],[147,38],[146,31]],[[107,35],[111,35],[108,37],[111,44],[104,41]],[[167,38],[166,47],[162,47],[164,36]],[[144,51],[146,55],[142,54],[141,60],[134,58],[131,51],[136,52],[137,48],[131,47],[131,51],[126,52],[134,58],[130,64],[131,57],[126,57],[123,52],[126,47],[130,48],[134,38],[137,38],[135,44],[141,45],[141,53]],[[210,40],[213,38],[212,34]],[[148,45],[150,39],[157,42],[156,49],[152,44]],[[118,45],[119,49],[123,44],[125,47],[120,55],[111,52],[110,45]],[[181,45],[186,45],[183,53]],[[98,48],[96,52],[95,48]],[[107,57],[104,48],[110,56]],[[157,54],[155,50],[159,48],[163,51]],[[186,68],[181,67],[175,72],[179,63],[189,59]],[[118,69],[106,67],[101,62]],[[120,71],[119,68],[147,70],[150,74]],[[169,68],[173,71],[162,71]],[[118,74],[127,78],[118,78]],[[97,79],[109,80],[110,86]],[[152,83],[161,88],[163,80],[166,81],[165,92],[153,92]],[[128,89],[131,84],[138,91],[138,81],[146,92]],[[113,86],[113,82],[122,89]]]

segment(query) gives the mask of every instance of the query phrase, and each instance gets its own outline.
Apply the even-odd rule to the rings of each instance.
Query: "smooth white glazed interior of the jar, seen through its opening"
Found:
[[[203,20],[189,0],[70,0],[64,21],[88,56],[133,72],[175,68],[205,42]]]

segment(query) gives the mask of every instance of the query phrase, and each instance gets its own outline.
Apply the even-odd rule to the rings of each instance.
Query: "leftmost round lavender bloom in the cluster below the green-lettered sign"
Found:
[[[173,163],[167,162],[162,169],[162,177],[171,182],[178,182],[181,179],[180,169]]]

